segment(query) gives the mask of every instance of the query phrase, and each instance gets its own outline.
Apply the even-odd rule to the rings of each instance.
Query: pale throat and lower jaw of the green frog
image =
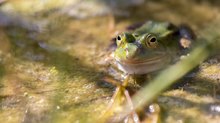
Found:
[[[141,61],[119,61],[116,59],[118,68],[128,74],[147,74],[162,69],[170,62],[171,57],[168,55],[161,55]]]

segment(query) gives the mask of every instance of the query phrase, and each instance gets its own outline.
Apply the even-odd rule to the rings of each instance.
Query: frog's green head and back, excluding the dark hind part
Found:
[[[179,35],[170,23],[148,21],[133,32],[116,38],[114,58],[118,68],[128,74],[147,74],[170,64],[180,52]]]

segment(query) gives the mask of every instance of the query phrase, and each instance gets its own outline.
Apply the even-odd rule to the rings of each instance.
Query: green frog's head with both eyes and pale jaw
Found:
[[[130,74],[145,74],[170,61],[160,37],[153,33],[122,33],[116,38],[114,58],[119,69]]]

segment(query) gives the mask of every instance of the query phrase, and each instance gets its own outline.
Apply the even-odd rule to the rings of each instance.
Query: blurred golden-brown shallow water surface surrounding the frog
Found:
[[[217,0],[0,0],[0,121],[96,122],[114,86],[103,57],[111,39],[147,20],[187,24],[219,37]],[[220,121],[220,55],[187,85],[158,97],[165,123]]]

